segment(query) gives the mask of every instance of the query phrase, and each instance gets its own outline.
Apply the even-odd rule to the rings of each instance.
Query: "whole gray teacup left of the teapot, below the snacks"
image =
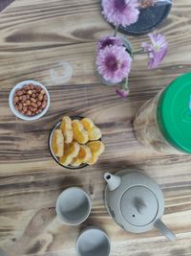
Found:
[[[65,224],[78,225],[89,217],[91,200],[81,188],[71,187],[57,198],[55,210]]]

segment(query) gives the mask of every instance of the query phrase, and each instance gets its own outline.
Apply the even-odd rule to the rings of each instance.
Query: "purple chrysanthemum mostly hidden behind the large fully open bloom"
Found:
[[[106,46],[122,46],[122,39],[117,36],[104,36],[96,44],[97,52],[103,50]]]

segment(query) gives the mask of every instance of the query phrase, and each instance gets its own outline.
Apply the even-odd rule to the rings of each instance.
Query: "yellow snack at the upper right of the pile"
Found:
[[[83,118],[81,120],[83,127],[88,130],[89,140],[98,140],[101,138],[102,134],[99,128],[96,127],[94,122],[90,118]]]

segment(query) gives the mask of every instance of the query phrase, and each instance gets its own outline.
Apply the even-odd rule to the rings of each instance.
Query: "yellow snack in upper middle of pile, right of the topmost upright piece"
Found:
[[[79,120],[73,120],[74,141],[80,144],[88,142],[88,131],[83,127]]]

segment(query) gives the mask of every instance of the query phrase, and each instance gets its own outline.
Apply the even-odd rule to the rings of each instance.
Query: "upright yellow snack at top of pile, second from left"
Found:
[[[73,127],[69,116],[63,116],[60,128],[63,132],[65,143],[71,143],[73,141]]]

